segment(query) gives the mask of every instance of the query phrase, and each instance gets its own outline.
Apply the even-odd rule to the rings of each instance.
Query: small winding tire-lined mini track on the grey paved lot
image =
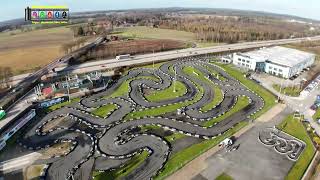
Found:
[[[286,155],[292,161],[299,159],[306,146],[303,141],[275,127],[261,131],[259,133],[259,140],[266,146],[274,147],[276,152]]]

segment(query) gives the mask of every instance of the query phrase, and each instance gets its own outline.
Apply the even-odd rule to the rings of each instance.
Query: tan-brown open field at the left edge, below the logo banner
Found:
[[[34,71],[63,55],[60,46],[73,40],[68,27],[0,33],[0,66],[14,74]]]

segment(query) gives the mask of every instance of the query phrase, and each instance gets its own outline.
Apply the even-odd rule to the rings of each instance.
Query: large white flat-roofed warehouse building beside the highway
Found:
[[[304,68],[310,67],[315,57],[312,53],[276,46],[246,53],[235,53],[233,64],[253,71],[290,78]]]

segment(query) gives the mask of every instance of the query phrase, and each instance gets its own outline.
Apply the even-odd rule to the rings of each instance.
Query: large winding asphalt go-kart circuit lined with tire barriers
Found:
[[[197,73],[188,74],[185,67],[193,67],[201,72],[207,82],[197,77]],[[212,75],[218,72],[224,80]],[[176,72],[176,74],[175,74]],[[153,78],[146,78],[153,77]],[[158,80],[155,80],[157,78]],[[172,83],[181,82],[186,92],[172,99],[148,101],[146,91],[162,91]],[[113,97],[121,84],[130,81],[127,95]],[[211,83],[211,82],[212,83]],[[208,83],[209,82],[209,83]],[[211,84],[210,84],[211,83]],[[222,100],[213,108],[201,111],[201,108],[216,98],[212,86],[218,86],[223,92]],[[200,94],[200,96],[199,96]],[[109,98],[106,98],[108,97]],[[211,126],[204,122],[227,113],[237,103],[240,96],[249,98],[249,104]],[[133,112],[185,103],[181,108],[184,118],[172,119],[162,114],[156,117],[145,116],[131,119]],[[107,104],[116,106],[105,118],[93,115],[92,111]],[[137,127],[159,126],[176,133],[201,139],[213,139],[242,121],[264,106],[264,101],[254,92],[229,76],[221,68],[201,59],[183,59],[168,62],[159,69],[132,69],[115,84],[103,92],[83,98],[46,114],[37,124],[26,131],[20,144],[30,149],[42,149],[61,141],[73,143],[72,149],[61,157],[52,157],[46,161],[46,179],[89,179],[91,172],[108,171],[124,165],[134,155],[147,150],[149,156],[138,168],[129,173],[127,179],[150,179],[159,173],[169,158],[171,147],[163,137],[143,134]],[[172,112],[176,112],[172,109]],[[63,121],[61,121],[63,118]],[[44,128],[47,123],[57,121],[54,127]]]

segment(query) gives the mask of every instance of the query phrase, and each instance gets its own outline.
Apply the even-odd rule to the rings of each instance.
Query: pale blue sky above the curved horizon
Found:
[[[158,7],[231,8],[320,20],[320,0],[1,0],[0,21],[23,18],[32,5],[65,5],[71,12]]]

